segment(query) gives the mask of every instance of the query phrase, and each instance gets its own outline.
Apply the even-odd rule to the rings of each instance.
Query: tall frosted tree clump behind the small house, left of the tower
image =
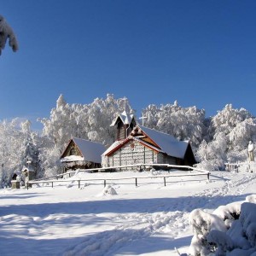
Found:
[[[55,174],[61,172],[56,164],[61,152],[71,137],[81,137],[109,146],[115,138],[115,130],[109,125],[119,112],[132,112],[128,102],[115,99],[108,94],[106,99],[96,98],[90,104],[68,104],[61,95],[57,99],[56,108],[50,112],[49,119],[41,119],[44,125],[44,150],[39,158],[44,172]]]

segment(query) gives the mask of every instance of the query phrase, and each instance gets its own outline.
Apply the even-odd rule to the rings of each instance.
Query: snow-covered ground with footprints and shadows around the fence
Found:
[[[163,172],[161,172],[163,174]],[[80,182],[75,179],[148,177]],[[150,172],[79,172],[67,183],[0,190],[1,255],[177,255],[187,253],[189,212],[244,201],[255,173],[163,177]],[[109,186],[111,185],[111,186]],[[115,193],[117,195],[115,195]]]

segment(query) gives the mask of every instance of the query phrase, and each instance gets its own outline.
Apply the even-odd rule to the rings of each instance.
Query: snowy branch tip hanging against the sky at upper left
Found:
[[[2,54],[2,50],[5,47],[7,40],[9,39],[9,46],[13,49],[13,51],[18,50],[18,42],[15,37],[15,32],[6,22],[2,15],[0,15],[0,55]]]

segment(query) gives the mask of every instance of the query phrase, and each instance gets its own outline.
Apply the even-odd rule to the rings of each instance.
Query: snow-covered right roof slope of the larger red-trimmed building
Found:
[[[138,126],[154,143],[156,143],[166,154],[183,159],[189,142],[178,141],[170,134],[155,131],[142,125]]]

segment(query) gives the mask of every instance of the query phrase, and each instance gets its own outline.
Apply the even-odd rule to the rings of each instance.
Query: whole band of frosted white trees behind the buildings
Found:
[[[37,177],[61,172],[58,160],[71,137],[100,142],[107,148],[115,137],[109,125],[124,111],[124,101],[108,94],[90,104],[69,104],[61,95],[49,118],[38,120],[44,125],[42,133],[32,131],[29,120],[0,121],[0,186],[9,186],[14,172],[21,171],[27,161],[37,170]],[[127,100],[126,111],[140,115]],[[224,169],[227,161],[247,160],[247,144],[256,141],[255,117],[231,104],[211,118],[204,109],[183,108],[177,102],[151,104],[143,109],[143,116],[147,117],[144,126],[189,140],[199,166],[209,171]]]

